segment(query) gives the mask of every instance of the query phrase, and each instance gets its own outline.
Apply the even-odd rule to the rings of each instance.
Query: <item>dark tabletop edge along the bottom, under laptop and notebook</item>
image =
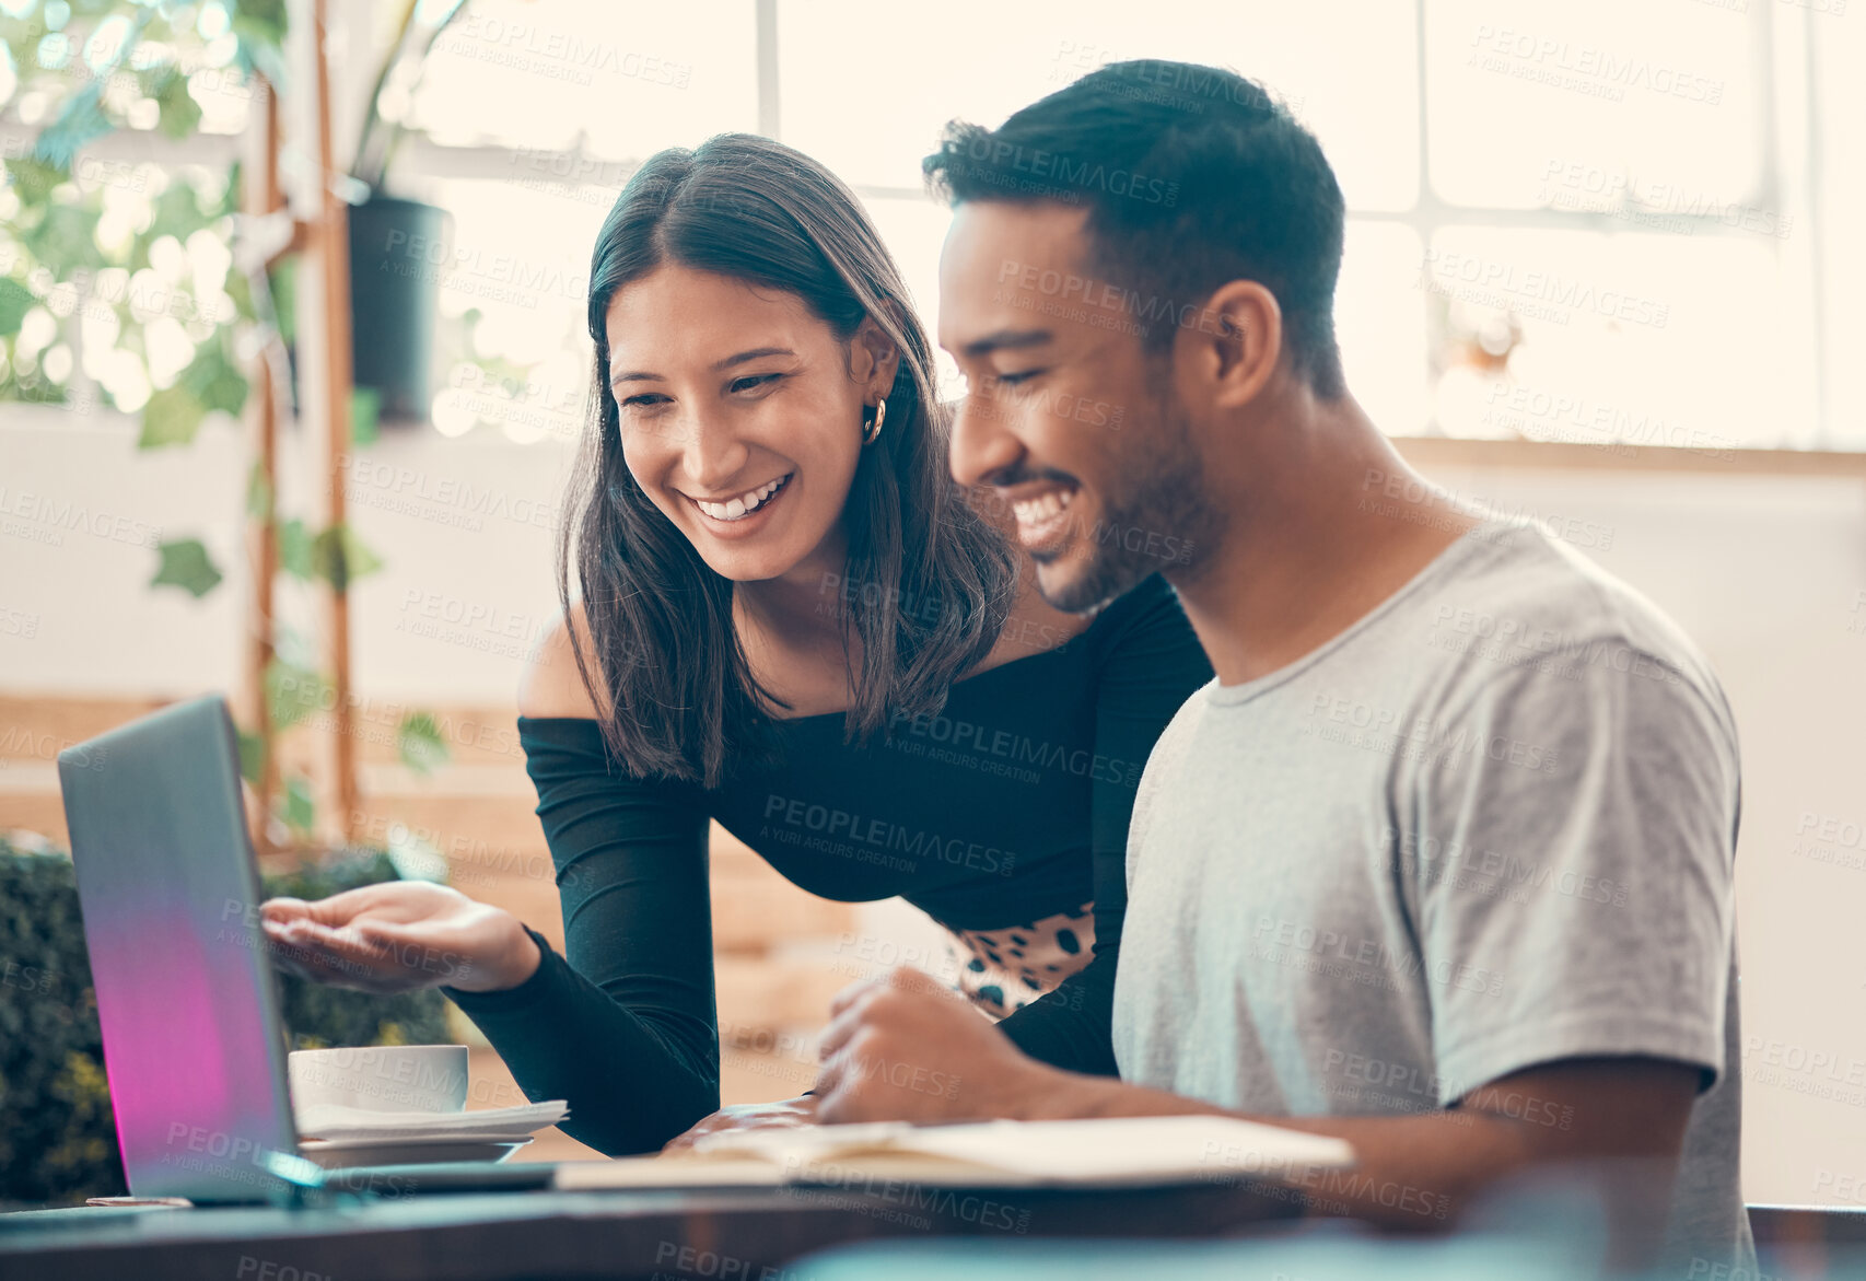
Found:
[[[1276,1190],[515,1191],[330,1208],[78,1206],[0,1216],[0,1277],[60,1281],[795,1281],[786,1264],[899,1236],[1222,1236],[1295,1214]]]

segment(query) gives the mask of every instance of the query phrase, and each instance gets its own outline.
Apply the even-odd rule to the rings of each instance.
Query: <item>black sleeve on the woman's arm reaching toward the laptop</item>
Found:
[[[564,950],[537,971],[446,995],[526,1098],[569,1102],[564,1132],[649,1152],[718,1109],[707,810],[679,782],[621,775],[595,721],[519,719],[556,866]]]

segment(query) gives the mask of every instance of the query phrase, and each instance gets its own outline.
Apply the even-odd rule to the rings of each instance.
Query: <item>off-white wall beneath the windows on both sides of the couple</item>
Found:
[[[9,407],[0,508],[80,504],[106,534],[58,545],[0,517],[0,689],[192,693],[239,670],[246,463],[231,429],[138,454],[91,416]],[[554,611],[550,530],[564,443],[392,435],[362,452],[353,519],[388,566],[356,586],[364,697],[500,702]],[[1610,530],[1586,551],[1709,654],[1745,760],[1737,857],[1748,1074],[1745,1195],[1836,1201],[1866,1184],[1866,482],[1601,471],[1439,472],[1461,493]],[[285,495],[285,510],[293,508]],[[118,517],[202,530],[224,583],[205,601],[144,586],[155,553]],[[69,512],[62,515],[69,521]],[[129,528],[134,534],[134,528]],[[7,611],[34,635],[7,627]],[[1804,816],[1812,831],[1803,831]],[[1832,824],[1840,840],[1821,840]],[[1844,844],[1851,842],[1851,844]]]

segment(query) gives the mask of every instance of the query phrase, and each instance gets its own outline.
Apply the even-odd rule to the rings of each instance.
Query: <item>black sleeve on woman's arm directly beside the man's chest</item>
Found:
[[[1000,1023],[1024,1053],[1097,1076],[1118,1076],[1114,969],[1127,911],[1127,824],[1135,790],[1161,732],[1192,691],[1211,680],[1205,650],[1164,579],[1146,579],[1108,611],[1112,616],[1095,637],[1101,650],[1090,799],[1093,960]]]

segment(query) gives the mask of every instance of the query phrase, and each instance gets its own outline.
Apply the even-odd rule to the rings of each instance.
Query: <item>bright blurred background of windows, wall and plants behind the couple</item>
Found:
[[[931,321],[944,121],[1211,62],[1340,174],[1373,418],[1715,663],[1747,782],[1745,1195],[1866,1188],[1859,4],[0,0],[0,35],[4,857],[63,848],[62,747],[226,691],[271,874],[446,878],[562,943],[513,689],[556,611],[588,254],[629,174],[722,131],[801,148]],[[724,1092],[791,1096],[829,995],[933,964],[931,936],[713,846]],[[78,1137],[56,1169],[0,1148],[0,1197],[110,1161],[82,947],[28,898],[0,900],[0,1113]],[[300,1044],[478,1044],[439,1006],[319,1018]],[[474,1072],[472,1105],[522,1102],[483,1044]]]

